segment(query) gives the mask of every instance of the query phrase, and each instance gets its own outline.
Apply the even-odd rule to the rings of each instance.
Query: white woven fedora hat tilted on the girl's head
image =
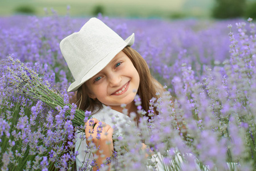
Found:
[[[97,18],[91,18],[78,32],[60,42],[60,50],[75,79],[68,92],[100,72],[125,46],[132,46],[134,34],[123,40]]]

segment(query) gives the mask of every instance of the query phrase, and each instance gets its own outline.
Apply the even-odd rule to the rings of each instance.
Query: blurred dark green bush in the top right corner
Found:
[[[215,0],[212,10],[213,18],[254,18],[256,19],[256,2],[246,0]]]

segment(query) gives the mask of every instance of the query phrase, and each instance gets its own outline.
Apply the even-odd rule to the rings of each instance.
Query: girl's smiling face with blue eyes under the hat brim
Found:
[[[134,100],[140,84],[140,77],[129,57],[119,52],[98,74],[86,82],[88,94],[101,103],[121,112],[120,105]]]

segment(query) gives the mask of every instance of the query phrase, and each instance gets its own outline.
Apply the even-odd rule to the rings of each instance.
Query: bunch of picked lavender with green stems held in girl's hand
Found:
[[[8,80],[8,84],[14,86],[17,93],[40,100],[49,107],[56,109],[63,114],[63,117],[72,120],[75,127],[84,125],[84,111],[76,109],[75,104],[69,104],[67,93],[60,94],[57,89],[51,87],[47,80],[43,81],[32,68],[27,67],[20,60],[14,60],[9,56],[6,62],[9,64],[7,70],[13,77],[13,79]],[[74,111],[72,112],[72,110]]]

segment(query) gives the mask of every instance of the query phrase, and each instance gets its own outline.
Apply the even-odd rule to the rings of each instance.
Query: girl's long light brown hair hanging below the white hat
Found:
[[[157,92],[163,92],[164,88],[162,88],[161,84],[157,82],[155,78],[151,75],[148,64],[143,59],[143,57],[133,48],[127,46],[123,49],[123,52],[131,59],[133,66],[136,68],[137,72],[140,76],[140,85],[139,89],[137,91],[137,94],[140,96],[141,99],[141,107],[148,111],[149,109],[149,100],[152,99],[152,97],[156,97]],[[99,100],[91,99],[88,96],[88,93],[90,92],[90,89],[86,86],[84,83],[81,87],[78,88],[78,92],[76,93],[77,103],[78,107],[82,109],[83,111],[92,111],[92,113],[95,113],[99,111],[103,105]],[[128,112],[135,112],[137,113],[137,108],[135,105],[135,102],[132,102],[131,108],[128,109]],[[155,110],[155,114],[158,115],[158,112]],[[146,114],[146,116],[148,116]],[[139,121],[139,114],[137,113],[137,122]]]

